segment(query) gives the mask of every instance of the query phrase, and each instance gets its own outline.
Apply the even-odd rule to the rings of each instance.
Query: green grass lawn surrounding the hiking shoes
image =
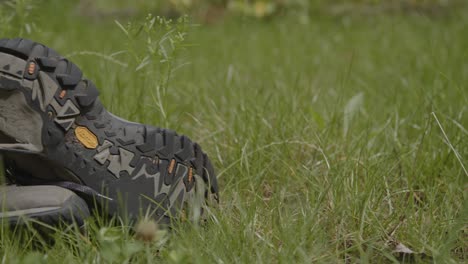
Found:
[[[467,261],[468,9],[190,26],[177,59],[138,71],[144,43],[113,18],[22,11],[2,35],[71,57],[115,114],[198,141],[221,204],[150,245],[3,228],[2,263],[393,263],[400,243]]]

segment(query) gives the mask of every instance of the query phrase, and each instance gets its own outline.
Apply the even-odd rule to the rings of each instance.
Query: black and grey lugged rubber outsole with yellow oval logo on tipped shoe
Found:
[[[100,103],[95,85],[83,79],[82,71],[42,44],[1,39],[2,56],[15,59],[6,64],[6,60],[0,61],[0,90],[20,89],[42,114],[44,157],[55,166],[96,191],[104,190],[114,200],[128,196],[125,207],[132,215],[138,214],[137,205],[142,204],[156,209],[156,217],[167,221],[168,213],[176,215],[187,199],[199,196],[194,192],[209,192],[217,199],[214,168],[197,143],[169,129],[111,115]],[[32,88],[2,74],[27,79]],[[199,179],[204,184],[196,184]],[[152,202],[144,197],[152,197]],[[110,210],[120,209],[111,205]]]

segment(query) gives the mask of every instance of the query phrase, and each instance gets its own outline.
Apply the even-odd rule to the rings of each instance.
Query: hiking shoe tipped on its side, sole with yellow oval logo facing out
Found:
[[[116,117],[98,94],[54,50],[0,40],[0,151],[18,181],[60,183],[111,215],[149,213],[161,223],[218,201],[213,166],[198,144]]]

